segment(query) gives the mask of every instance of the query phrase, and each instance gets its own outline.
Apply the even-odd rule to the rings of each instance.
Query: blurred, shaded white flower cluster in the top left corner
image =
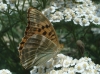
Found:
[[[6,11],[7,5],[10,6],[11,9],[17,10],[15,4],[18,6],[19,10],[27,10],[30,6],[29,3],[32,3],[34,7],[37,6],[37,0],[5,0],[6,3],[3,3],[3,0],[0,0],[0,11]],[[24,2],[25,1],[25,2]]]

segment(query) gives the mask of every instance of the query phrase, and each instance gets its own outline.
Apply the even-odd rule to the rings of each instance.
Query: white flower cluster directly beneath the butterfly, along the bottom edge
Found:
[[[100,65],[91,58],[82,57],[79,60],[58,54],[44,66],[35,66],[30,74],[100,74]]]

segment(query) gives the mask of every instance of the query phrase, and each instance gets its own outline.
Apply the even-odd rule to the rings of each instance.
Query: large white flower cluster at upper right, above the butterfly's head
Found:
[[[89,26],[90,23],[100,24],[100,8],[93,4],[92,0],[52,0],[43,14],[51,22],[65,22],[72,21],[74,24],[80,24],[81,26]]]

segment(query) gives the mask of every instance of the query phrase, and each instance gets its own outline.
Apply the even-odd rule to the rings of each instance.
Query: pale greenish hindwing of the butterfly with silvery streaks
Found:
[[[56,50],[56,51],[54,51]],[[25,43],[21,53],[21,64],[29,69],[33,65],[43,65],[57,54],[57,45],[43,35],[33,35]]]

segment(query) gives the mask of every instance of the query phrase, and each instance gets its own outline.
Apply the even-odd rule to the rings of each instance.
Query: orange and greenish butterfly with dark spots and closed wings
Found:
[[[27,27],[19,44],[19,58],[25,69],[45,64],[60,52],[55,30],[50,21],[37,9],[30,7]]]

